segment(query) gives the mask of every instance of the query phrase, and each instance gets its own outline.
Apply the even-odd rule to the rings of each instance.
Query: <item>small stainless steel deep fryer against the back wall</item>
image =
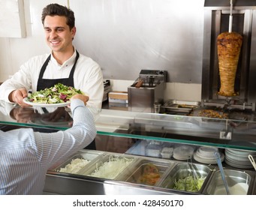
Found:
[[[134,83],[128,87],[128,110],[154,113],[154,104],[163,104],[167,71],[141,70]]]

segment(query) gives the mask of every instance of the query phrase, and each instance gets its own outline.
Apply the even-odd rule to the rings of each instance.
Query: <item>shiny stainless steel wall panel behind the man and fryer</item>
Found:
[[[74,43],[104,78],[168,71],[170,83],[201,83],[204,0],[74,0]]]

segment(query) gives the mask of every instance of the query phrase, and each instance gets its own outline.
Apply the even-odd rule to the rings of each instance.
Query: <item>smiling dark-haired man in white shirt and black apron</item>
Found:
[[[77,32],[74,12],[68,7],[50,4],[44,7],[41,21],[50,55],[38,55],[24,63],[0,86],[0,100],[27,107],[23,98],[29,90],[36,92],[62,83],[88,94],[87,107],[100,110],[104,95],[101,67],[92,58],[77,52],[73,45]]]

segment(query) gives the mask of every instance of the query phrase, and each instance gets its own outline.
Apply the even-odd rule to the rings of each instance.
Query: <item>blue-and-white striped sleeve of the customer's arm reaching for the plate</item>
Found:
[[[36,155],[42,166],[50,168],[60,160],[65,160],[75,152],[89,145],[96,136],[92,113],[83,101],[71,102],[73,126],[56,133],[35,132]]]

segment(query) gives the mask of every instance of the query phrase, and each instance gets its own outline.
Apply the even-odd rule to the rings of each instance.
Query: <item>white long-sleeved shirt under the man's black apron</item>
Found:
[[[76,55],[77,52],[74,50],[74,54],[63,65],[59,65],[56,59],[51,56],[43,79],[68,78]],[[16,89],[25,88],[36,92],[38,77],[48,56],[49,54],[38,55],[24,63],[20,67],[20,71],[0,86],[0,100],[10,102],[8,96]],[[92,58],[80,54],[74,71],[74,88],[80,89],[89,95],[87,107],[93,107],[97,110],[101,109],[104,95],[103,75],[101,67]]]

